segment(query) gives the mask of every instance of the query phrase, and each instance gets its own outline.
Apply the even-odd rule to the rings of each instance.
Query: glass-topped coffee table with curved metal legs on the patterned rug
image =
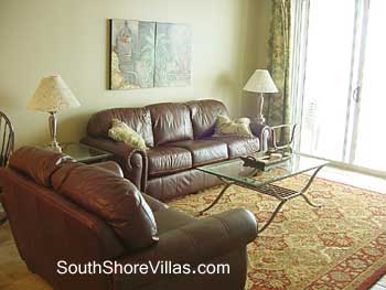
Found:
[[[258,159],[258,157],[256,158]],[[314,204],[305,195],[305,192],[310,187],[318,172],[328,163],[329,162],[324,160],[292,153],[288,160],[268,171],[244,167],[244,161],[242,159],[227,160],[215,164],[200,167],[197,170],[215,175],[225,183],[223,190],[219,192],[213,203],[200,213],[203,214],[215,206],[226,190],[232,185],[246,187],[259,194],[275,196],[280,202],[274,211],[272,215],[269,217],[268,222],[261,227],[261,229],[258,230],[258,234],[260,234],[271,224],[285,203],[291,198],[301,196],[310,206],[321,206],[319,204]],[[310,175],[308,182],[299,191],[293,191],[272,184],[274,182],[305,173],[308,171],[313,171],[313,173]]]

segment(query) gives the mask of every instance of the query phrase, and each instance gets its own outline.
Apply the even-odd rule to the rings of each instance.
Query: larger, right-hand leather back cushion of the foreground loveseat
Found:
[[[76,164],[53,174],[58,193],[105,221],[130,250],[158,241],[153,213],[131,182],[99,167]]]

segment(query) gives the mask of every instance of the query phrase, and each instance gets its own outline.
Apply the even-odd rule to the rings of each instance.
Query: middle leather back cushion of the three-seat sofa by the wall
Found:
[[[147,108],[151,114],[156,146],[193,139],[191,115],[184,104],[163,103]]]

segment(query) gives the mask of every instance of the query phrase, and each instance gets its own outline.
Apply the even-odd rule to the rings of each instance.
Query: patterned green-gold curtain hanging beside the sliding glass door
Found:
[[[267,96],[265,116],[270,126],[289,123],[291,0],[272,0],[269,40],[270,73],[278,94]]]

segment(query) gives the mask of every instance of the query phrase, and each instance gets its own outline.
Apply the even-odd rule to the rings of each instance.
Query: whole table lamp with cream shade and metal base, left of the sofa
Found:
[[[28,108],[50,114],[49,125],[52,139],[50,147],[54,151],[61,152],[60,143],[56,140],[56,115],[58,111],[77,108],[79,106],[79,101],[75,98],[66,83],[64,83],[63,78],[60,75],[53,75],[42,78],[35,94],[28,105]]]

